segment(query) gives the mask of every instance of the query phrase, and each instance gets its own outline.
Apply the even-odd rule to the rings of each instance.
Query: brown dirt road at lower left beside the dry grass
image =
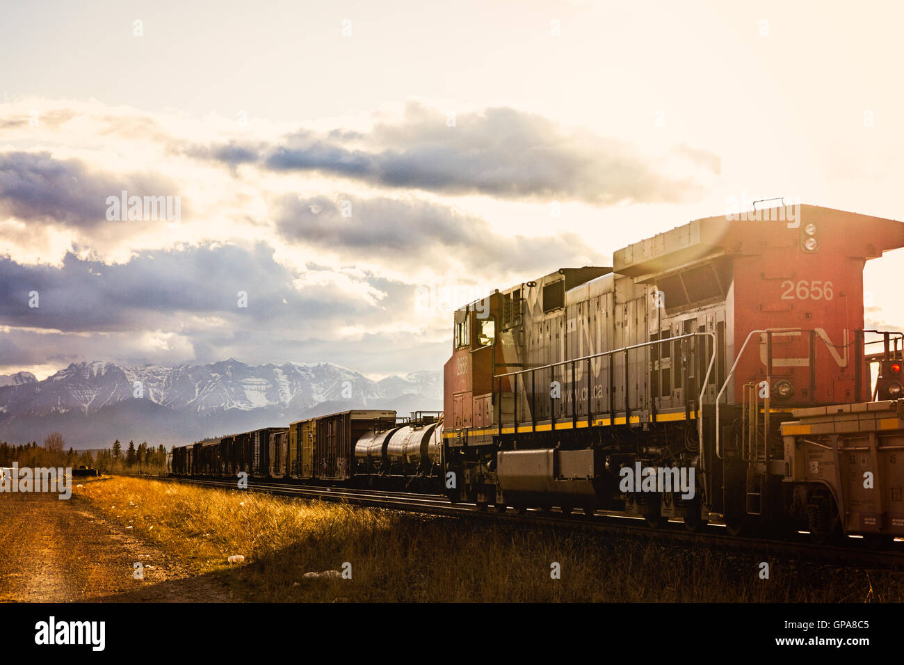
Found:
[[[230,600],[221,577],[193,577],[78,496],[0,493],[0,602]]]

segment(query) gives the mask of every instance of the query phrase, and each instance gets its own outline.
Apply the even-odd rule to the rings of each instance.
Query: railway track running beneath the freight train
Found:
[[[174,476],[137,476],[149,480],[170,480],[204,487],[221,489],[239,488],[234,480],[177,478]],[[817,545],[801,540],[776,540],[752,536],[730,536],[720,525],[709,525],[697,532],[687,531],[680,520],[670,521],[663,527],[646,525],[644,518],[630,518],[598,511],[592,516],[573,517],[555,510],[529,508],[519,512],[509,508],[504,513],[494,510],[477,510],[473,503],[450,503],[441,494],[417,494],[381,489],[347,489],[315,487],[278,482],[249,482],[249,491],[260,491],[276,496],[297,499],[337,501],[369,508],[391,508],[427,515],[451,518],[502,520],[512,524],[543,527],[572,527],[601,533],[617,533],[632,537],[648,538],[654,542],[683,546],[709,545],[763,556],[789,556],[820,563],[860,565],[877,570],[904,569],[904,543],[894,542],[889,549],[871,550],[863,546]],[[244,491],[244,490],[243,490]]]

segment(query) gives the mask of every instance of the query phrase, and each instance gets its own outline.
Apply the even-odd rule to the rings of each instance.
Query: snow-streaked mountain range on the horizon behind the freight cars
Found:
[[[373,381],[333,363],[118,366],[73,363],[38,381],[0,375],[0,440],[41,443],[61,432],[66,447],[106,448],[115,439],[167,446],[280,426],[348,409],[442,409],[438,371]]]

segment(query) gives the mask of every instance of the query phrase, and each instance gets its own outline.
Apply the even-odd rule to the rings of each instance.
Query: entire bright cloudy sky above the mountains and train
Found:
[[[692,219],[904,218],[904,5],[736,5],[5,6],[0,374],[438,369],[475,292]],[[866,271],[892,328],[899,252]]]

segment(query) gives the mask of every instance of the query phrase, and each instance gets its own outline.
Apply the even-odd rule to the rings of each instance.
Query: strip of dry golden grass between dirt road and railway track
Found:
[[[645,537],[514,527],[175,482],[114,478],[77,490],[170,556],[228,575],[234,597],[330,602],[870,602],[904,600],[899,573],[867,573]],[[760,579],[759,562],[770,564]],[[304,578],[343,570],[352,579]],[[560,579],[551,578],[551,564]],[[297,583],[297,584],[296,584]]]

